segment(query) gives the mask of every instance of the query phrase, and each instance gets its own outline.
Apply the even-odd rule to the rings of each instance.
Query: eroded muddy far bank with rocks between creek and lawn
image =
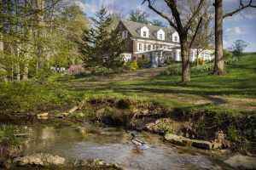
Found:
[[[54,123],[96,122],[151,133],[177,134],[187,139],[218,142],[219,148],[256,154],[256,116],[233,116],[213,105],[198,108],[169,108],[156,102],[129,99],[87,99],[66,112],[1,114],[1,122]]]

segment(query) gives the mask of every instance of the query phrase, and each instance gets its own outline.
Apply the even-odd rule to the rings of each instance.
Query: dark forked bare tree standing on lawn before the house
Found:
[[[184,22],[181,16],[181,12],[178,10],[177,1],[175,0],[165,0],[167,6],[172,11],[172,17],[164,14],[160,9],[154,7],[154,1],[151,0],[143,0],[143,3],[148,2],[148,8],[152,9],[156,14],[159,14],[164,19],[168,20],[170,26],[172,26],[178,33],[180,37],[180,45],[181,45],[181,56],[182,56],[182,82],[187,83],[190,82],[190,72],[189,72],[189,51],[195,40],[195,35],[201,25],[201,20],[199,20],[198,25],[196,26],[195,33],[191,40],[189,41],[189,29],[195,18],[197,18],[200,14],[201,8],[203,7],[205,0],[201,0],[195,12],[191,14],[189,20]]]

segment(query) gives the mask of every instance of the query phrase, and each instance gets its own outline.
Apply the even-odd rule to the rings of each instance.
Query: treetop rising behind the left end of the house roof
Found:
[[[148,24],[148,14],[142,10],[131,10],[129,20],[142,24]]]

